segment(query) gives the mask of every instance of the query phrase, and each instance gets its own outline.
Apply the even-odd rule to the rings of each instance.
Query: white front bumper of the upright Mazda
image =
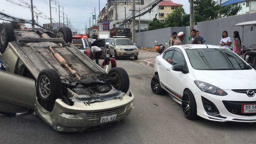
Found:
[[[216,96],[212,94],[205,93],[203,91],[195,94],[196,105],[197,105],[197,115],[202,118],[225,122],[225,121],[234,121],[234,122],[256,122],[256,114],[241,114],[241,107],[240,109],[237,107],[227,107],[225,106],[226,101],[237,101],[241,103],[256,103],[256,97],[248,97],[244,93],[236,93],[232,90],[225,90],[228,95],[227,96]],[[209,112],[206,112],[206,109],[203,107],[202,97],[206,98],[207,100],[211,101],[216,108],[218,109],[219,114],[212,115]],[[231,109],[237,110],[231,113]]]

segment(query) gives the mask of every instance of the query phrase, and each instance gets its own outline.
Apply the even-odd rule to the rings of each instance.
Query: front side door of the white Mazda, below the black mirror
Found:
[[[183,67],[186,65],[184,55],[179,48],[175,48],[173,57],[167,68],[168,69],[167,79],[169,83],[168,87],[174,92],[175,96],[177,96],[176,94],[178,94],[177,97],[181,98],[182,96],[181,85],[182,85],[182,79],[183,79],[184,73],[173,71],[171,67],[176,64],[180,64]]]

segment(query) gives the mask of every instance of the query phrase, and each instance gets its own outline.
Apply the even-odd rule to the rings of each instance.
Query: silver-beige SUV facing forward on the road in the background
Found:
[[[128,38],[113,37],[109,43],[109,57],[115,56],[115,60],[119,57],[134,57],[134,60],[138,60],[139,49],[135,46],[135,43]]]

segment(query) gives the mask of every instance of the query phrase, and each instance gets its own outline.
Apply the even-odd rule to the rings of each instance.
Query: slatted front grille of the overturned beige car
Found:
[[[108,111],[101,111],[101,112],[88,112],[86,113],[86,117],[89,120],[95,120],[95,119],[99,119],[99,117],[101,115],[106,115],[106,114],[111,114],[111,113],[117,113],[122,114],[125,112],[126,107],[121,107],[121,108],[116,108],[116,109],[111,109]]]

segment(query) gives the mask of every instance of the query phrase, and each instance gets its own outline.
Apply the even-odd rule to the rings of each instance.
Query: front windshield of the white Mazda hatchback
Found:
[[[237,54],[228,49],[186,50],[191,65],[199,70],[242,70],[251,69]]]

